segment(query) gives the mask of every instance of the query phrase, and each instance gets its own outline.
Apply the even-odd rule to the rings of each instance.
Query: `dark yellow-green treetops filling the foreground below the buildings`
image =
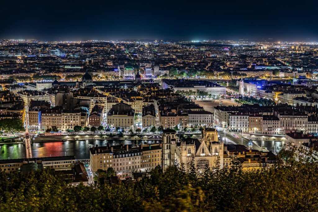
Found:
[[[318,165],[281,151],[268,171],[158,167],[136,185],[69,187],[49,170],[0,173],[0,211],[317,211]]]

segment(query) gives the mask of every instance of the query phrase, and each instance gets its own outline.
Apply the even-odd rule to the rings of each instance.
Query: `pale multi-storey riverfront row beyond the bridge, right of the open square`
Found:
[[[313,106],[217,106],[214,124],[233,132],[284,135],[295,130],[317,133],[317,108]]]

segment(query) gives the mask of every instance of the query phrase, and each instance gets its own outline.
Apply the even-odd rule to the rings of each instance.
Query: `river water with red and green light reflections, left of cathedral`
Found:
[[[76,159],[89,159],[89,148],[95,146],[106,146],[107,142],[111,145],[132,144],[140,140],[76,140],[76,141],[54,141],[32,143],[33,157],[50,157],[50,156],[64,156],[75,155]],[[142,141],[144,142],[144,141]],[[158,141],[148,141],[158,142]],[[19,144],[3,144],[0,145],[0,160],[3,159],[25,158],[25,146]]]

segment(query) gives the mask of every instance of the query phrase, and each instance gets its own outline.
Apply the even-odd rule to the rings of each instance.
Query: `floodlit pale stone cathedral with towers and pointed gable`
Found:
[[[189,170],[193,161],[198,172],[205,167],[213,168],[219,164],[223,168],[223,142],[218,141],[218,131],[205,128],[202,138],[178,138],[176,131],[166,129],[162,134],[162,168],[165,170],[171,165]]]

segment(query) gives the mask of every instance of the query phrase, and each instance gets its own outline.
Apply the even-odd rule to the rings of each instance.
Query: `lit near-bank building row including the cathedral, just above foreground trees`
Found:
[[[272,152],[253,150],[252,143],[248,148],[224,144],[219,141],[218,132],[213,128],[205,128],[201,139],[179,138],[175,130],[165,129],[160,144],[90,148],[93,172],[111,167],[120,177],[149,172],[158,165],[163,170],[176,165],[189,171],[193,164],[198,172],[203,172],[206,167],[231,167],[233,157],[238,157],[245,171],[268,168],[276,162]]]

